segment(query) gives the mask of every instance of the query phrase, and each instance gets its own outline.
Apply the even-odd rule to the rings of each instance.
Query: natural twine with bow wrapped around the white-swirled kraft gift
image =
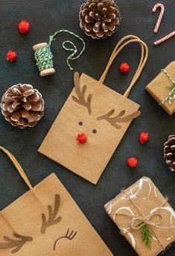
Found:
[[[136,207],[136,209],[141,214],[141,216],[139,216],[139,215],[134,215],[134,214],[131,214],[131,213],[115,213],[115,215],[122,215],[122,216],[132,217],[132,220],[130,222],[130,226],[129,226],[129,228],[127,228],[127,232],[131,231],[131,230],[141,231],[141,228],[143,228],[145,225],[147,227],[150,227],[152,230],[153,230],[153,228],[161,228],[161,229],[175,228],[175,226],[173,226],[173,225],[171,225],[171,226],[162,226],[161,225],[163,217],[162,217],[161,213],[159,213],[159,210],[161,210],[161,208],[168,202],[168,198],[165,198],[165,201],[159,207],[156,207],[152,212],[150,212],[150,214],[148,214],[147,216],[144,216],[144,213],[141,212],[139,207],[137,207],[137,205],[135,204],[133,199],[130,198],[130,196],[127,194],[127,192],[125,190],[122,190],[121,192],[124,192],[124,194],[127,195],[127,197],[130,199],[132,204]],[[153,217],[156,217],[156,216],[159,216],[159,218],[160,218],[159,222],[151,221],[151,219],[153,219]],[[123,233],[123,232],[121,232],[121,233]],[[124,233],[126,233],[126,232],[124,232]],[[153,230],[153,233],[156,235],[156,238],[159,241],[159,243],[161,244],[162,249],[165,250],[164,243],[160,239],[157,232]],[[149,245],[149,247],[150,247],[150,245]]]

